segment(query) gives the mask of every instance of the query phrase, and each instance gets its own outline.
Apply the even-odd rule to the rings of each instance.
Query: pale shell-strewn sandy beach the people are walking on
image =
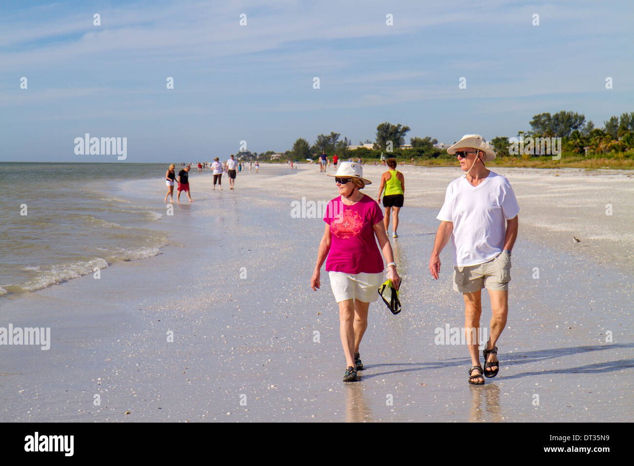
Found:
[[[427,269],[444,190],[460,172],[402,170],[406,204],[391,242],[403,312],[370,305],[360,382],[341,381],[339,317],[323,269],[321,289],[309,288],[323,221],[290,216],[302,196],[335,197],[334,181],[316,165],[262,165],[238,175],[235,191],[214,192],[209,174],[193,174],[197,201],[157,222],[172,235],[164,254],[4,300],[2,325],[51,327],[53,341],[49,351],[0,347],[0,420],[630,420],[631,174],[494,169],[517,193],[520,235],[500,374],[472,386],[467,349],[434,344],[436,328],[463,327],[450,248],[437,282]],[[365,168],[372,197],[382,171]],[[160,179],[120,188],[118,196],[155,197],[164,209]],[[488,320],[486,297],[483,307]]]

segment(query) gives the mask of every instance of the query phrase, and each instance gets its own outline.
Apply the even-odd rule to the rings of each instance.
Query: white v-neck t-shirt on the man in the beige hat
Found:
[[[437,219],[453,223],[453,264],[467,267],[497,256],[504,247],[506,221],[519,214],[508,180],[494,172],[473,186],[465,176],[447,186]]]

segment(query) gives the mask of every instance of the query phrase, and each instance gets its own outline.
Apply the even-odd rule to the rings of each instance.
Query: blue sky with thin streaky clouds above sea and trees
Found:
[[[126,137],[127,162],[180,162],[242,140],[358,143],[385,121],[444,143],[515,136],[559,110],[601,127],[634,111],[633,13],[585,0],[2,1],[0,160],[116,161],[75,155],[85,133]]]

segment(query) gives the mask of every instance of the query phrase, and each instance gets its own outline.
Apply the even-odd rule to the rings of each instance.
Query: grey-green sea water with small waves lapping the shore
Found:
[[[131,200],[116,186],[148,178],[165,186],[168,165],[0,162],[0,296],[160,254],[162,199]]]

